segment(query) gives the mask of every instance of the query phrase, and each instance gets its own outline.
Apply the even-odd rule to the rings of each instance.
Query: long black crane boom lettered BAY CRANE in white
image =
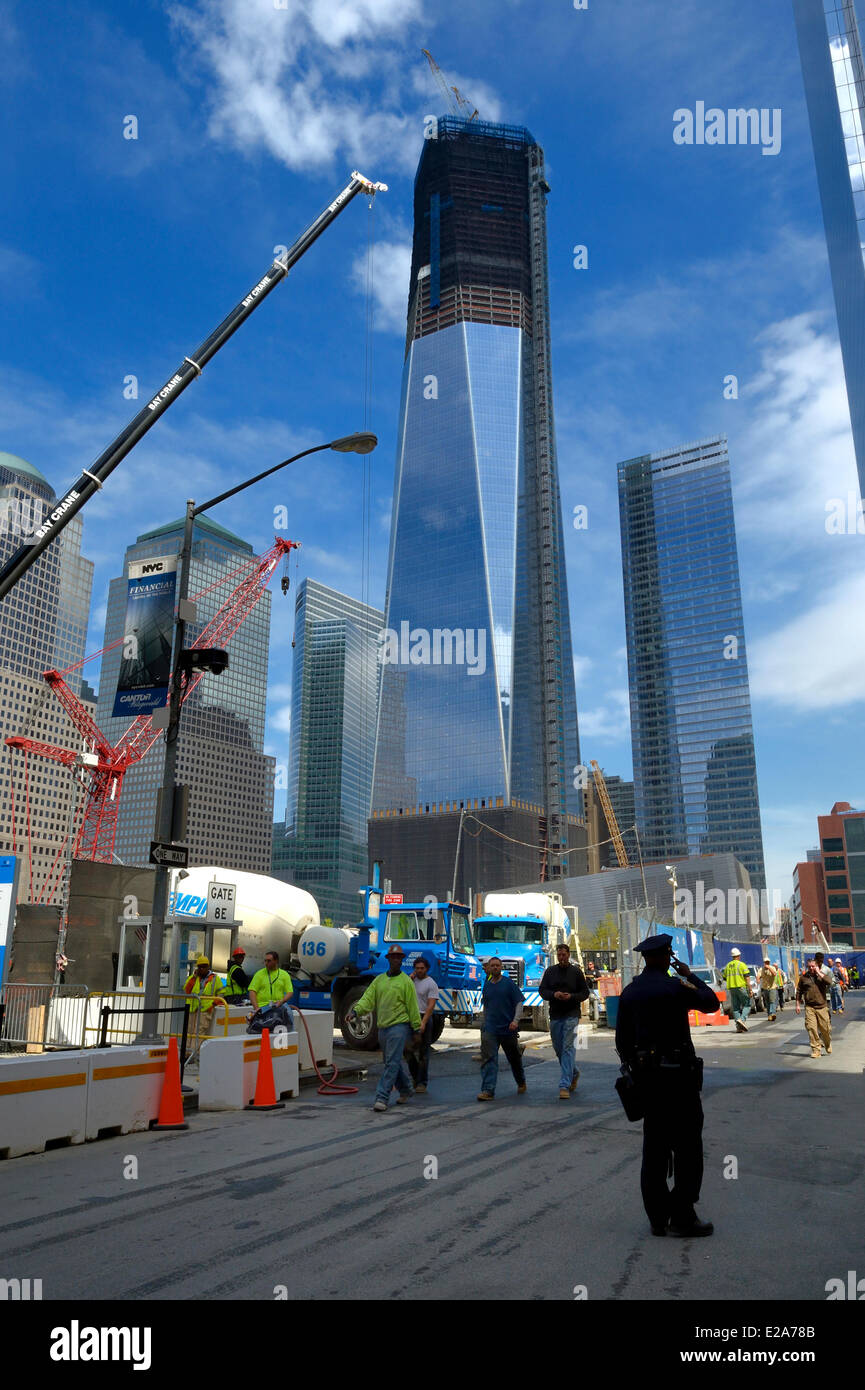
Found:
[[[42,525],[35,531],[33,539],[28,541],[26,545],[21,545],[7,560],[3,570],[0,570],[0,599],[6,598],[18,580],[26,574],[29,567],[39,559],[46,546],[49,546],[63,528],[68,525],[72,517],[81,512],[93,493],[102,488],[108,474],[111,474],[117,464],[127,457],[139,439],[146,435],[147,430],[150,430],[159,417],[164,414],[168,406],[174,404],[189,382],[195,377],[200,377],[202,368],[206,367],[220,348],[228,342],[241,324],[249,318],[261,300],[270,295],[271,289],[278,285],[281,279],[285,279],[292,265],[295,265],[305,252],[309,250],[313,242],[321,236],[321,232],[324,232],[334,218],[337,218],[339,213],[348,207],[352,199],[362,192],[374,196],[378,192],[387,192],[387,183],[373,183],[369,178],[364,178],[363,174],[357,174],[357,171],[352,174],[346,186],[337,193],[334,202],[328,203],[314,222],[312,222],[306,231],[302,232],[293,246],[289,246],[285,256],[280,256],[273,263],[261,279],[259,279],[257,284],[254,284],[243,296],[243,299],[235,304],[223,322],[218,324],[204,342],[195,349],[192,356],[184,357],[181,366],[175,373],[172,373],[171,377],[168,377],[165,385],[147,400],[135,418],[129,421],[125,430],[121,430],[108,448],[100,453],[93,467],[85,468],[81,473],[81,477],[72,484],[57,506],[45,516]]]

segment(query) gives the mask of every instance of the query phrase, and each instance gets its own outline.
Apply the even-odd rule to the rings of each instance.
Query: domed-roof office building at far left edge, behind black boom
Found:
[[[33,534],[56,500],[53,486],[33,464],[0,453],[0,564]],[[75,727],[42,678],[43,671],[65,671],[85,656],[93,564],[81,553],[81,537],[78,516],[0,603],[1,739],[22,735],[81,748]],[[81,671],[70,671],[65,680],[79,695]],[[18,901],[33,902],[61,862],[78,788],[63,764],[36,755],[25,758],[3,741],[0,788],[0,855],[21,858]]]

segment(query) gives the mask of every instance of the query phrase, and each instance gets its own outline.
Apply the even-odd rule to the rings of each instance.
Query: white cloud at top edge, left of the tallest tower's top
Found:
[[[266,150],[309,171],[339,156],[409,170],[417,158],[416,115],[394,108],[405,31],[420,0],[197,0],[170,10],[178,32],[216,78],[210,133],[245,152]],[[375,101],[357,74],[384,81]],[[343,81],[345,79],[345,81]],[[385,104],[391,101],[391,106]]]

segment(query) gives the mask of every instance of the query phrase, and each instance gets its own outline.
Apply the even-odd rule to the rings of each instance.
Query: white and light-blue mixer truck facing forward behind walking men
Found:
[[[499,956],[505,974],[524,995],[523,1019],[548,1031],[549,1005],[538,994],[541,976],[549,965],[552,948],[576,944],[574,962],[583,965],[577,934],[577,909],[567,910],[556,892],[488,892],[484,912],[474,919],[474,949],[481,960]],[[572,940],[573,938],[573,940]]]

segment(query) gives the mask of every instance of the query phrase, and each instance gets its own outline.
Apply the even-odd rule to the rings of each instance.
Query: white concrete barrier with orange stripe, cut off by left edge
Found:
[[[0,1158],[83,1144],[88,1074],[86,1052],[0,1059]]]

